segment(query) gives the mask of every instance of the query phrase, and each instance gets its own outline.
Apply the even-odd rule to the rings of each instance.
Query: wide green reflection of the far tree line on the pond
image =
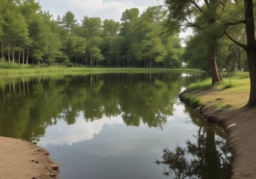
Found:
[[[122,116],[127,125],[161,128],[173,114],[180,72],[25,77],[0,81],[0,136],[35,141],[45,128]]]

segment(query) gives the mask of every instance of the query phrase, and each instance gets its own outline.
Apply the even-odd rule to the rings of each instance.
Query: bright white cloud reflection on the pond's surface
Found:
[[[40,138],[38,144],[45,146],[47,144],[65,144],[77,143],[79,141],[86,141],[93,139],[93,135],[99,134],[104,125],[113,125],[124,123],[122,118],[103,118],[102,120],[95,120],[86,122],[83,118],[83,113],[76,119],[74,125],[67,125],[63,120],[58,121],[57,125],[48,127],[45,136]]]

